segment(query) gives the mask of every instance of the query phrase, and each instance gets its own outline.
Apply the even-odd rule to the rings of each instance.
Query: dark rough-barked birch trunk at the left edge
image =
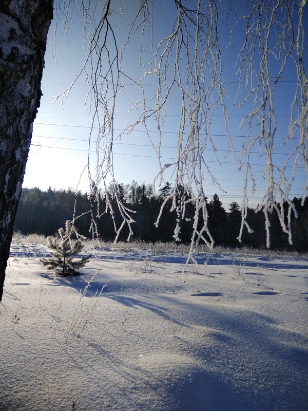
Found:
[[[0,301],[32,136],[40,106],[53,0],[0,3]]]

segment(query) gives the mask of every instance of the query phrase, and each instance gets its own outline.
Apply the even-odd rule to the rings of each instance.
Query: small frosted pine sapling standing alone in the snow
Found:
[[[70,220],[66,221],[65,230],[60,228],[58,233],[60,237],[47,237],[52,257],[41,258],[40,261],[47,267],[47,270],[61,268],[63,276],[79,275],[80,273],[77,270],[89,261],[91,255],[83,255],[82,258],[74,260],[72,257],[83,249],[84,245],[80,238],[85,239],[85,237],[81,236],[72,227]],[[76,240],[71,239],[73,233],[77,236]]]

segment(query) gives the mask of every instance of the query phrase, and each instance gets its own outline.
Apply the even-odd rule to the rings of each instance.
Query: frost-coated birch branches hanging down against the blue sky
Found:
[[[61,99],[63,102],[74,83],[85,74],[89,86],[86,103],[93,114],[93,123],[95,121],[99,124],[95,186],[100,186],[106,193],[106,208],[103,212],[98,210],[97,216],[108,211],[111,213],[117,233],[115,240],[119,238],[125,225],[129,228],[129,239],[134,222],[132,211],[125,207],[119,196],[113,170],[113,144],[117,137],[114,128],[115,108],[119,98],[126,96],[129,101],[131,98],[135,99],[130,109],[135,118],[122,134],[129,134],[140,128],[146,133],[158,156],[159,172],[153,185],[166,184],[166,170],[172,171],[174,176],[174,189],[165,195],[157,224],[163,208],[172,199],[171,210],[176,210],[178,214],[174,238],[179,240],[180,221],[185,218],[185,208],[187,204],[194,205],[190,255],[200,240],[210,249],[214,244],[207,225],[205,185],[212,183],[223,191],[224,188],[215,176],[210,162],[206,160],[205,151],[211,151],[212,158],[221,165],[218,156],[219,142],[213,138],[214,117],[217,113],[223,119],[227,152],[233,154],[239,170],[244,164],[246,166],[239,241],[244,229],[252,232],[246,221],[247,187],[251,185],[253,193],[256,190],[252,156],[255,154],[254,148],[258,147],[260,156],[266,157],[263,178],[267,180],[267,188],[257,209],[263,210],[265,215],[266,245],[269,247],[270,244],[268,213],[272,212],[277,213],[282,230],[288,234],[292,244],[291,215],[293,211],[296,216],[296,210],[290,192],[300,163],[304,164],[308,175],[308,81],[303,64],[306,46],[303,26],[305,2],[276,0],[273,3],[260,0],[258,3],[248,1],[239,5],[232,0],[175,0],[167,2],[168,4],[159,3],[158,0],[145,0],[134,6],[136,9],[133,10],[133,18],[126,26],[125,3],[122,8],[118,2],[106,0],[100,15],[97,2],[69,0],[67,3],[67,7],[63,9],[60,7],[62,2],[58,3],[57,22],[61,13],[65,26],[74,12],[80,16],[85,27],[85,42],[88,40],[87,55],[71,86],[55,96],[55,100]],[[161,5],[168,7],[169,27],[161,20]],[[124,26],[127,27],[125,40]],[[239,124],[240,127],[246,127],[239,158],[228,130],[228,111],[231,106],[228,98],[232,87],[225,76],[229,77],[233,69],[228,61],[223,60],[224,37],[228,35],[230,46],[239,45],[234,70],[239,86],[234,103],[238,104],[240,113],[245,107],[248,110]],[[133,65],[129,47],[133,44],[136,48],[137,40],[140,53],[136,65]],[[286,69],[290,67],[296,86],[290,106],[290,127],[284,144],[292,143],[292,148],[285,164],[278,166],[273,156],[274,147],[277,146],[275,137],[278,127],[275,93]],[[153,94],[149,94],[147,82],[156,84]],[[177,158],[174,162],[164,164],[164,129],[169,110],[174,105],[179,115]],[[155,135],[150,131],[153,123],[156,123]],[[290,164],[293,166],[291,178],[286,173]],[[88,174],[92,181],[90,161]],[[115,189],[115,202],[110,200],[108,194],[110,180]],[[308,182],[302,198],[305,197],[307,184]],[[185,187],[180,194],[181,200],[179,187]],[[189,198],[185,193],[189,193]],[[114,203],[123,219],[120,225],[114,220]],[[286,222],[283,211],[285,203],[288,207]]]

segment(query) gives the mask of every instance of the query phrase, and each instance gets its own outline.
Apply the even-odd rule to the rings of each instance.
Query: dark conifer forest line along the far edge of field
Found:
[[[114,186],[110,184],[108,190],[111,201],[117,201]],[[168,207],[163,210],[159,226],[155,226],[161,205],[172,190],[170,183],[166,182],[158,192],[153,191],[151,184],[141,185],[137,181],[132,181],[130,184],[118,184],[117,190],[118,198],[120,196],[123,203],[134,211],[133,218],[136,222],[133,224],[134,237],[132,239],[145,242],[174,241],[174,229],[178,216],[175,210],[169,211],[172,208],[172,199],[167,204]],[[178,187],[176,190],[180,199],[180,191],[183,188]],[[93,192],[95,190],[91,190],[91,193]],[[188,193],[186,195],[189,196]],[[273,213],[269,215],[272,249],[308,251],[308,197],[304,199],[303,205],[301,198],[295,197],[293,201],[298,212],[298,218],[293,216],[292,219],[293,245],[288,244],[287,235],[282,232],[278,217]],[[72,219],[75,215],[81,216],[75,220],[75,226],[80,234],[91,238],[92,234],[89,229],[91,218],[94,217],[99,238],[104,241],[113,241],[116,234],[110,214],[103,213],[100,218],[96,217],[98,207],[102,213],[105,206],[106,196],[103,192],[97,192],[97,195],[92,194],[91,196],[81,191],[75,193],[71,189],[52,190],[49,188],[47,191],[42,191],[38,188],[24,188],[17,209],[14,229],[22,234],[55,235],[57,230],[65,225],[66,220]],[[114,207],[114,210],[114,222],[120,225],[122,216],[120,212],[117,213],[117,208]],[[225,210],[219,196],[214,194],[213,198],[207,200],[207,211],[208,227],[215,245],[232,248],[242,245],[253,248],[265,247],[266,233],[262,211],[256,213],[254,209],[248,209],[247,221],[254,233],[249,234],[244,230],[241,243],[237,240],[241,224],[241,209],[237,202],[231,202]],[[185,216],[179,222],[180,238],[184,244],[189,244],[191,241],[194,214],[195,208],[191,204],[186,208]],[[119,240],[125,241],[127,235],[128,229],[124,228]]]

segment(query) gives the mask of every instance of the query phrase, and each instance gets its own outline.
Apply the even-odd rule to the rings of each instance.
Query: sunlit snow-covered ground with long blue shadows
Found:
[[[1,411],[307,409],[307,258],[200,254],[183,273],[185,253],[109,247],[63,278],[46,253],[11,247]]]

